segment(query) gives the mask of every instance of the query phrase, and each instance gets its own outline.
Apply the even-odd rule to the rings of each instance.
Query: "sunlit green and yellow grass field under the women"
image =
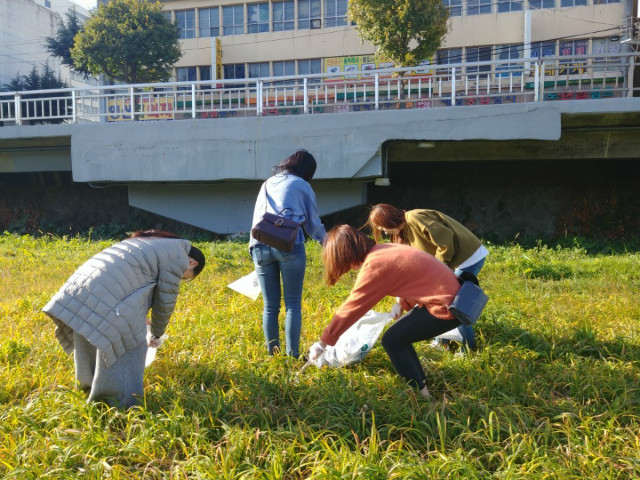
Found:
[[[346,369],[265,353],[246,243],[198,242],[145,405],[88,405],[40,309],[113,243],[0,235],[3,479],[640,478],[640,255],[489,245],[479,350],[418,344],[434,399],[376,346]],[[303,348],[346,298],[308,244]],[[391,299],[378,305],[388,309]]]

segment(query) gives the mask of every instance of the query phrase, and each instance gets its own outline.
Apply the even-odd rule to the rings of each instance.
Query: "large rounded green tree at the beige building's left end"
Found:
[[[94,75],[125,83],[167,80],[181,56],[180,30],[159,2],[111,0],[100,4],[75,36],[71,57]]]

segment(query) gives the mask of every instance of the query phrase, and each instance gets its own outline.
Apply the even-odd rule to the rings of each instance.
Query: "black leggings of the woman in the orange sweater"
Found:
[[[453,330],[460,322],[457,319],[440,320],[431,315],[426,308],[416,307],[409,315],[391,325],[382,336],[382,346],[396,371],[409,385],[422,390],[426,375],[413,344],[429,340]]]

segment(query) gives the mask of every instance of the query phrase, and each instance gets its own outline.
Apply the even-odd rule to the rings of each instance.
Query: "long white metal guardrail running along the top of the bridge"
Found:
[[[630,97],[634,93],[635,55],[544,57],[348,74],[4,92],[0,93],[0,126]]]

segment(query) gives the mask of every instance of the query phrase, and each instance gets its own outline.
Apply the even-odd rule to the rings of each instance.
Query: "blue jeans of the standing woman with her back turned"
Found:
[[[284,292],[285,338],[287,355],[300,355],[300,330],[302,327],[302,284],[307,265],[307,254],[303,243],[293,247],[292,252],[258,243],[251,248],[258,281],[264,298],[262,329],[269,354],[280,349],[278,315],[280,314],[280,277]]]

